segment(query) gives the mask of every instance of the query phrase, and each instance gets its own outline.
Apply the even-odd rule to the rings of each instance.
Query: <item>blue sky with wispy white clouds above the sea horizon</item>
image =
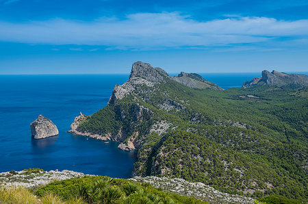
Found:
[[[0,74],[308,72],[308,0],[0,0]]]

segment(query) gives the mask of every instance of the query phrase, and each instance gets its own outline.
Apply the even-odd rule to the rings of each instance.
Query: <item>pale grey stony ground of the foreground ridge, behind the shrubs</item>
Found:
[[[0,173],[0,186],[18,187],[37,189],[55,181],[64,181],[66,179],[97,177],[96,175],[85,175],[75,171],[43,171],[42,169],[25,169],[23,171],[8,171]],[[99,177],[98,177],[99,178]],[[104,177],[101,177],[104,179]],[[214,188],[205,186],[201,183],[192,183],[184,179],[168,179],[166,177],[133,177],[131,179],[123,179],[125,181],[133,181],[136,183],[149,183],[155,188],[159,188],[175,194],[190,196],[200,199],[207,203],[253,203],[255,199],[244,196],[222,193]],[[65,183],[61,184],[65,188]],[[47,187],[48,189],[48,187]],[[40,191],[40,190],[39,190]],[[1,198],[0,198],[1,201]]]

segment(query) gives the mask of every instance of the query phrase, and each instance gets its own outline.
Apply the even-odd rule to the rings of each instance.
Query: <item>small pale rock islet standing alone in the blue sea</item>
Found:
[[[30,124],[30,128],[34,139],[43,139],[59,134],[57,126],[55,126],[50,119],[42,115],[39,115],[38,118]]]

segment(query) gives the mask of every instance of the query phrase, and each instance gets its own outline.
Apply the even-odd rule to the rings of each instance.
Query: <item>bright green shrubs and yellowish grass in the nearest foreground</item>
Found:
[[[205,203],[138,184],[127,179],[82,177],[55,181],[32,192],[27,188],[0,188],[0,203],[86,204],[86,203]]]

